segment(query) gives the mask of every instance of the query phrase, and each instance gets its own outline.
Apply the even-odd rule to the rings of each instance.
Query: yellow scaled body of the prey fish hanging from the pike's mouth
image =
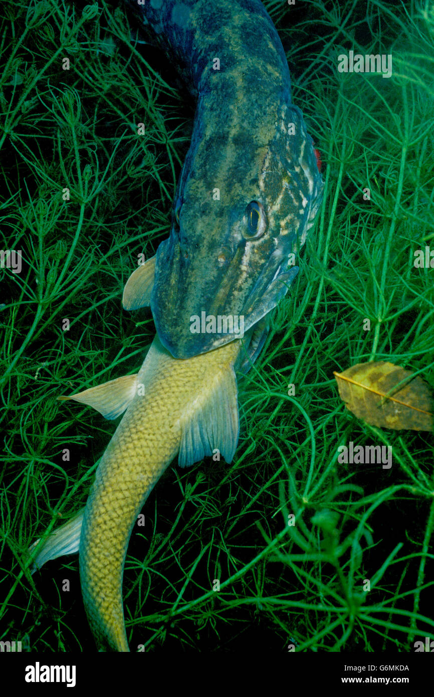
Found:
[[[219,438],[219,414],[231,424],[232,442],[227,438],[220,447],[224,457],[232,459],[238,440],[232,366],[240,345],[240,340],[235,340],[216,351],[176,360],[156,337],[141,367],[137,381],[144,385],[145,395],[137,394],[132,399],[102,456],[86,503],[80,537],[84,605],[102,650],[129,650],[122,579],[132,527],[150,491],[180,447],[184,452],[191,450],[194,433],[189,429],[198,413],[203,413],[210,429],[210,445],[205,454],[212,454],[212,440]],[[217,411],[217,416],[216,408],[222,410]],[[203,454],[196,453],[196,458],[202,459]]]

